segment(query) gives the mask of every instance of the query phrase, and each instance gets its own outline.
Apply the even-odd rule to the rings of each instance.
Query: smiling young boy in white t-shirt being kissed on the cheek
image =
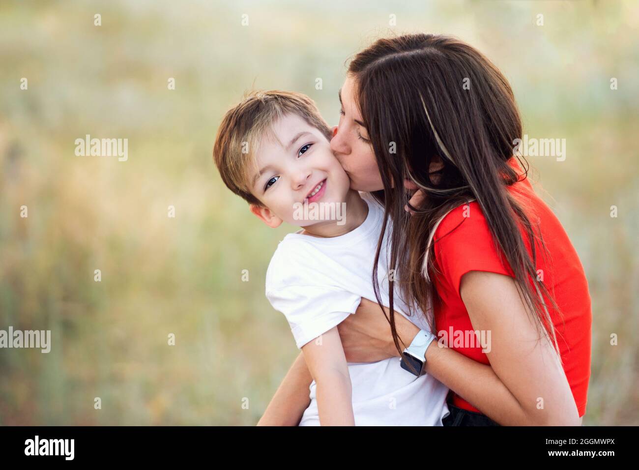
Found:
[[[227,187],[266,225],[302,227],[279,243],[266,272],[266,297],[286,316],[314,378],[300,425],[441,425],[448,389],[433,377],[416,377],[398,357],[346,362],[337,325],[362,297],[375,300],[383,209],[350,189],[312,100],[251,93],[224,116],[213,156]],[[380,294],[388,306],[386,271],[382,250]],[[397,294],[396,310],[408,311]],[[423,315],[407,318],[428,331]]]

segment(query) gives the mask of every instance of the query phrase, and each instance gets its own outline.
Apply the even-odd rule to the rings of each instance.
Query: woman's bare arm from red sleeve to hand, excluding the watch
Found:
[[[564,370],[550,344],[538,339],[512,279],[473,271],[462,278],[461,295],[473,328],[491,331],[491,365],[433,341],[426,350],[426,372],[502,425],[579,425]],[[401,315],[395,317],[401,342],[410,344],[419,328]],[[379,357],[383,350],[387,357],[399,356],[376,302],[362,301],[339,332],[344,333],[348,361]]]

